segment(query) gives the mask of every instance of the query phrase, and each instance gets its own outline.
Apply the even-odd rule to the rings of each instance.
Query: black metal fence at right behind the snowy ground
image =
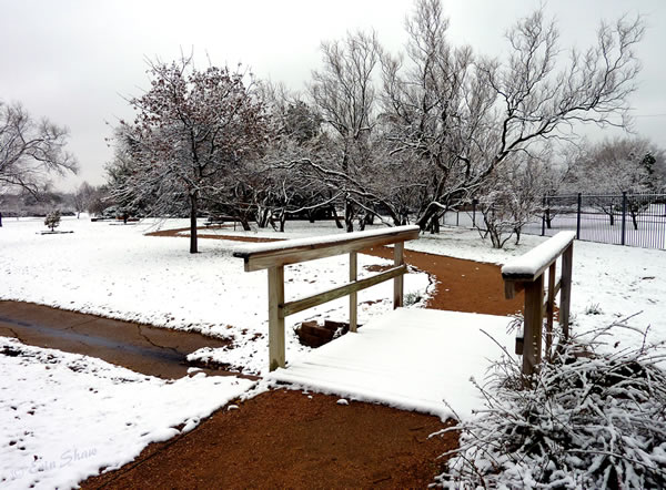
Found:
[[[666,249],[666,194],[546,196],[541,221],[523,233],[552,236],[562,229],[589,242]]]

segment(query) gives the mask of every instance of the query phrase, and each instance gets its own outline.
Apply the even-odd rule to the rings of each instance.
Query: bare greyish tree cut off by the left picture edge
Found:
[[[19,187],[37,195],[48,174],[77,172],[65,150],[69,131],[47,119],[36,121],[19,103],[0,102],[0,191]]]

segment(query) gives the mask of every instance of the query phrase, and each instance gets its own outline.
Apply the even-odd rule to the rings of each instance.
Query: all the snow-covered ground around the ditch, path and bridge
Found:
[[[165,224],[185,227],[185,221]],[[1,299],[27,300],[157,326],[193,329],[233,340],[212,353],[243,368],[265,371],[268,364],[266,275],[244,273],[232,256],[239,242],[201,239],[202,253],[188,253],[181,237],[149,237],[145,224],[123,226],[63,220],[72,234],[40,235],[41,220],[4,220],[0,228]],[[303,237],[339,233],[333,223],[287,223],[287,233],[210,229],[209,234]],[[423,235],[407,248],[504,264],[544,238],[524,236],[519,247],[494,251],[478,234],[444,228]],[[360,256],[360,270],[385,265]],[[287,267],[286,298],[346,282],[346,257]],[[426,297],[434,289],[423,273],[405,278],[405,292]],[[473,294],[473,292],[471,292]],[[391,309],[392,284],[360,294],[360,323]],[[666,253],[576,242],[572,313],[574,329],[592,329],[629,315],[632,325],[652,327],[653,340],[666,340]],[[418,307],[420,305],[414,305]],[[287,359],[309,349],[292,327],[305,318],[345,320],[346,298],[287,320]],[[618,331],[619,348],[642,338]],[[101,467],[131,460],[149,442],[189,430],[214,409],[250,387],[238,378],[202,374],[168,382],[101,360],[22,346],[0,339],[0,487],[67,488]],[[10,354],[8,354],[10,353]],[[203,356],[211,353],[201,353]],[[500,354],[500,353],[497,353]],[[456,398],[457,397],[457,398]],[[188,402],[192,398],[196,404]],[[452,406],[468,404],[450,396]],[[169,406],[170,410],[163,410]]]

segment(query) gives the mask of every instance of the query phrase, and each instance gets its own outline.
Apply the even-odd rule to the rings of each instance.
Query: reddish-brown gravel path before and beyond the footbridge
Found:
[[[185,236],[178,232],[152,235]],[[389,248],[364,253],[393,256]],[[495,265],[410,251],[405,261],[437,279],[428,308],[493,315],[521,308],[522,297],[504,299]],[[262,394],[236,402],[238,410],[219,410],[186,435],[149,446],[132,463],[82,487],[425,488],[443,470],[445,461],[437,457],[457,446],[453,432],[427,438],[444,427],[435,417],[336,400],[293,390]]]

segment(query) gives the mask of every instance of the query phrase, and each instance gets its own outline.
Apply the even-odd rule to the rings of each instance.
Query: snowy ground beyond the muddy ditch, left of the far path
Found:
[[[165,228],[185,227],[173,220]],[[244,372],[268,367],[268,283],[263,270],[245,273],[243,261],[232,256],[246,243],[201,239],[200,254],[190,254],[181,237],[153,237],[147,224],[63,220],[67,235],[38,235],[40,220],[6,220],[0,229],[0,299],[32,302],[160,327],[196,330],[230,338],[233,347],[213,353],[215,359]],[[224,229],[226,232],[226,229]],[[332,233],[329,227],[305,227],[289,238]],[[205,233],[220,233],[205,231]],[[258,236],[258,234],[250,234]],[[390,264],[361,255],[360,278],[372,275],[369,266]],[[349,257],[337,256],[285,268],[285,299],[292,300],[346,283]],[[405,294],[427,297],[427,274],[405,277]],[[392,308],[393,285],[387,282],[359,294],[359,323]],[[349,300],[341,298],[290,316],[286,320],[286,356],[301,346],[293,326],[312,318],[345,321]],[[202,353],[210,355],[210,353]]]

